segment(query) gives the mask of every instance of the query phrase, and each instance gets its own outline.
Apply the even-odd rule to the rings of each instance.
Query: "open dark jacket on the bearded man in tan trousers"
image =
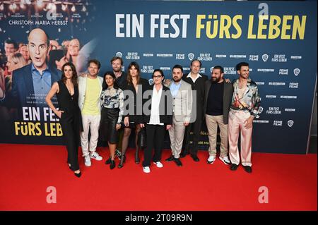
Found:
[[[206,107],[208,105],[208,91],[210,90],[212,83],[211,80],[206,80],[206,97],[204,102],[204,115],[206,114]],[[233,85],[224,81],[223,89],[223,123],[228,124],[228,112],[230,111],[230,105],[233,96]]]

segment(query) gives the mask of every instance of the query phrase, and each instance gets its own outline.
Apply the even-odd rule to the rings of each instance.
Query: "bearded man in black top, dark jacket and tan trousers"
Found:
[[[225,164],[230,164],[228,158],[228,113],[233,95],[232,83],[223,79],[222,66],[214,66],[211,80],[206,80],[204,101],[204,114],[206,127],[208,128],[208,164],[216,160],[216,135],[220,128],[220,156],[219,159]]]

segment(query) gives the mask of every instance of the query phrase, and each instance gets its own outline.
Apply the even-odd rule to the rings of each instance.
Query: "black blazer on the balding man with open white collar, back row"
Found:
[[[191,78],[187,78],[187,75],[189,73],[184,74],[182,77],[182,80],[189,83],[192,87],[192,90],[196,90],[196,118],[199,118],[203,120],[204,118],[204,99],[205,99],[205,84],[206,80],[208,80],[208,77],[206,75],[200,74],[201,78],[198,78],[196,80],[196,83],[193,83]],[[195,100],[195,99],[193,99]],[[194,106],[194,104],[192,104]],[[195,110],[194,107],[192,107],[192,110]]]

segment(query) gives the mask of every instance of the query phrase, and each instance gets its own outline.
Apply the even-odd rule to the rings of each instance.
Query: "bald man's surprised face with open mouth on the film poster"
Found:
[[[47,67],[46,59],[49,47],[47,46],[47,35],[41,29],[30,32],[28,49],[33,65],[37,70],[44,70]]]

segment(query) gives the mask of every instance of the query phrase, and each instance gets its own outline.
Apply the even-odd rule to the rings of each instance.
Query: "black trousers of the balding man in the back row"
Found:
[[[200,138],[201,133],[201,125],[202,125],[203,118],[197,117],[196,121],[194,123],[190,123],[189,126],[187,126],[184,134],[184,140],[183,140],[183,149],[184,152],[191,153],[192,155],[196,155],[198,153],[198,142]],[[193,132],[193,142],[192,142],[192,149],[190,149],[190,132]]]

